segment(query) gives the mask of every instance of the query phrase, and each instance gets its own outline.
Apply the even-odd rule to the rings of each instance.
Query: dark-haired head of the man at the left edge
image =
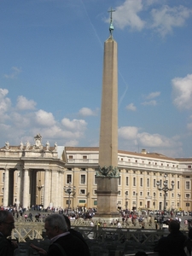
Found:
[[[11,212],[0,211],[0,232],[3,236],[11,236],[11,231],[15,229],[15,220]]]

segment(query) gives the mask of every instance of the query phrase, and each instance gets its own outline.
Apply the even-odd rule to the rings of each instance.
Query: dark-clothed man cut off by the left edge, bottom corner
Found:
[[[15,249],[18,247],[15,241],[9,240],[12,230],[15,229],[15,219],[9,211],[0,211],[0,255],[14,256]]]

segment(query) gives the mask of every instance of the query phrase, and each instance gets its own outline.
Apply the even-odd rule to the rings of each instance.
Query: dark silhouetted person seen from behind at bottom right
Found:
[[[170,234],[161,237],[154,247],[154,252],[159,252],[160,256],[186,256],[184,253],[184,242],[187,237],[180,231],[180,224],[176,220],[169,223]]]

